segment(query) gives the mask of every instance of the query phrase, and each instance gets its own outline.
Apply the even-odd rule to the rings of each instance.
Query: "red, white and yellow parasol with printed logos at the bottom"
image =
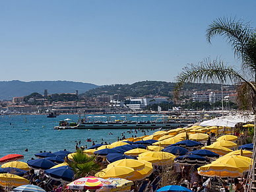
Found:
[[[98,177],[82,177],[67,185],[67,189],[107,189],[116,188],[110,181]]]

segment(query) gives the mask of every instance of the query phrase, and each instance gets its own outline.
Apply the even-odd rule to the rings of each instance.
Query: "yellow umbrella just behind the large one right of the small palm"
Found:
[[[139,160],[127,158],[127,159],[117,160],[111,164],[108,164],[108,168],[112,166],[125,166],[127,168],[133,168],[133,170],[136,171],[136,170],[142,170],[145,164],[143,162],[140,162]]]

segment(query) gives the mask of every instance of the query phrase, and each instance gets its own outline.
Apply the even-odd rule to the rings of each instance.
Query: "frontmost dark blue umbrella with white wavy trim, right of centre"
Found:
[[[189,165],[199,165],[203,166],[208,164],[210,160],[196,154],[185,154],[183,156],[178,156],[174,159],[175,162],[179,164],[189,164]]]

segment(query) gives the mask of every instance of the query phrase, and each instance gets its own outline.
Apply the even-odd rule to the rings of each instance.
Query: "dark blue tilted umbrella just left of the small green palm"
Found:
[[[69,166],[45,170],[44,173],[55,181],[63,181],[65,183],[71,182],[74,177],[74,172]]]

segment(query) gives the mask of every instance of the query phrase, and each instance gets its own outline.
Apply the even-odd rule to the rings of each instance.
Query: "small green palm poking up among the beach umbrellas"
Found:
[[[75,173],[75,178],[94,176],[101,168],[100,164],[95,162],[96,156],[88,156],[81,149],[73,154],[73,160],[67,160],[67,164]]]

